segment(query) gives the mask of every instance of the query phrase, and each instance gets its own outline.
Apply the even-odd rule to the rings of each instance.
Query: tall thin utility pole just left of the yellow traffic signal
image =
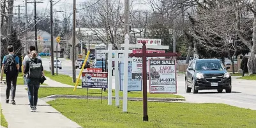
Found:
[[[53,14],[52,14],[52,0],[50,0],[50,69],[54,75],[54,35],[53,35]]]

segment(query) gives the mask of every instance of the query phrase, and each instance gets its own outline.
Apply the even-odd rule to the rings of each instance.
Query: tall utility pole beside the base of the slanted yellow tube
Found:
[[[72,71],[73,71],[73,82],[76,81],[77,77],[75,74],[75,20],[76,20],[76,11],[77,11],[77,7],[76,7],[76,0],[73,0],[73,41],[72,41]],[[86,63],[86,62],[85,62]]]

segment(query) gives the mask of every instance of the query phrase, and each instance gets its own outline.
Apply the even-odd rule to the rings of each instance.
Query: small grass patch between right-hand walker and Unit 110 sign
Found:
[[[58,74],[58,75],[52,75],[51,72],[44,70],[43,72],[45,72],[45,76],[49,77],[52,80],[56,80],[57,82],[61,82],[62,84],[68,84],[71,86],[75,86],[75,83],[73,83],[73,79],[72,77],[70,77],[69,75],[63,75],[63,74]],[[79,80],[79,85],[82,84],[82,80]]]

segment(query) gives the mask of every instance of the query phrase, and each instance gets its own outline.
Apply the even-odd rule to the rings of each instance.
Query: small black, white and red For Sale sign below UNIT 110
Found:
[[[83,72],[82,88],[107,88],[107,73]]]

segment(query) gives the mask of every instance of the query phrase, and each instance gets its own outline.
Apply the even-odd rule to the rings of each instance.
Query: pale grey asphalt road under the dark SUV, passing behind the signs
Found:
[[[43,67],[49,69],[48,58],[43,58]],[[59,70],[59,74],[72,76],[72,61],[61,59],[63,69]],[[77,69],[77,77],[80,70]],[[250,108],[256,110],[256,81],[240,80],[236,77],[232,78],[232,93],[217,93],[216,90],[199,91],[199,94],[185,93],[184,74],[177,75],[177,94],[184,96],[186,101],[191,103],[224,103],[227,105],[238,106],[241,108]],[[149,85],[149,84],[147,84]],[[114,77],[112,79],[112,88],[115,87]],[[147,87],[149,88],[149,87]]]

